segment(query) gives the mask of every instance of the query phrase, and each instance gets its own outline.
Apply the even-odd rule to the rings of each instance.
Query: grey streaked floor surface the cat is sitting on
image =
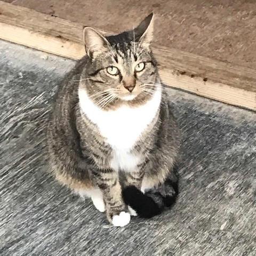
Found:
[[[183,131],[172,210],[108,225],[47,174],[45,127],[74,62],[0,42],[1,255],[256,255],[256,114],[170,89]]]

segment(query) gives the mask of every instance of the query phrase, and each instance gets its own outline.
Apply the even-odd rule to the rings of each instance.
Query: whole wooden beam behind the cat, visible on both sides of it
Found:
[[[0,38],[77,60],[83,25],[0,1]],[[110,34],[109,32],[105,34]],[[256,110],[256,70],[154,45],[166,85]]]

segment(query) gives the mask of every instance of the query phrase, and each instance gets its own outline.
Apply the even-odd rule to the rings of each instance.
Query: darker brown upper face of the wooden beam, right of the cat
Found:
[[[256,70],[167,47],[155,47],[159,63],[181,74],[256,92]],[[191,80],[192,82],[193,80]]]

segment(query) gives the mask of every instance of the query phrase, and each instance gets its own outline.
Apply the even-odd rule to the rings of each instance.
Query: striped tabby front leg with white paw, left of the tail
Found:
[[[123,201],[118,173],[113,169],[95,170],[93,178],[102,192],[108,221],[117,227],[127,225],[131,216]]]

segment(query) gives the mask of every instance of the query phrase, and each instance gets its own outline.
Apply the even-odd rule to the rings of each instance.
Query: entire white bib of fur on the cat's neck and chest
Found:
[[[140,156],[130,153],[142,132],[153,121],[161,102],[161,87],[145,105],[127,106],[105,111],[95,106],[86,90],[79,89],[79,104],[83,113],[99,128],[102,137],[113,148],[111,166],[115,169],[132,171]]]

